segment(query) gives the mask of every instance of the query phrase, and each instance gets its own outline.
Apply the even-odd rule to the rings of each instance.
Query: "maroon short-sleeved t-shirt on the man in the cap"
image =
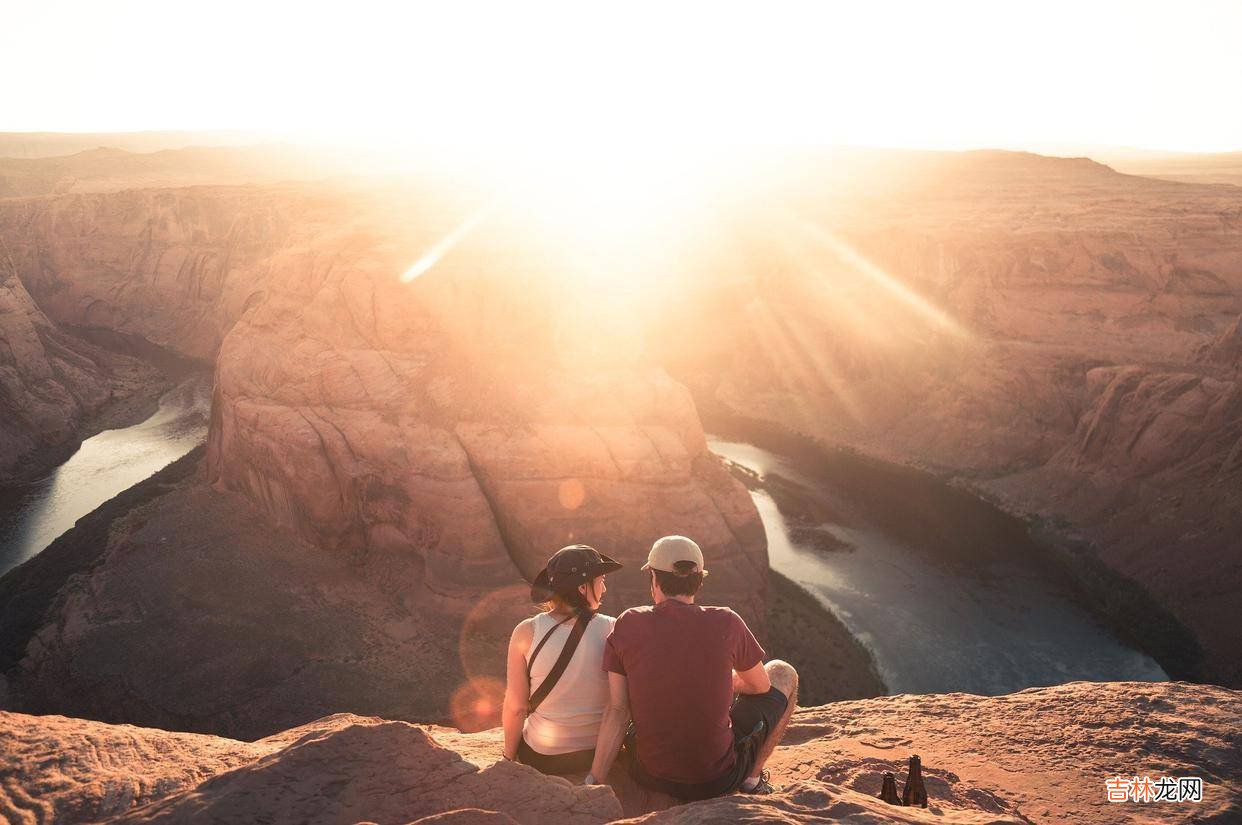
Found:
[[[604,670],[627,677],[643,769],[700,783],[733,768],[732,671],[763,660],[764,649],[728,608],[667,599],[622,613],[604,646]]]

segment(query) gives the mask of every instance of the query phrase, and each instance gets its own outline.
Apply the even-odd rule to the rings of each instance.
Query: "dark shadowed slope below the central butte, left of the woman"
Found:
[[[47,562],[71,554],[61,581],[42,554],[5,577],[45,604],[6,615],[4,707],[255,738],[334,708],[451,718],[456,691],[496,675],[461,652],[461,619],[402,605],[199,467],[53,543]]]

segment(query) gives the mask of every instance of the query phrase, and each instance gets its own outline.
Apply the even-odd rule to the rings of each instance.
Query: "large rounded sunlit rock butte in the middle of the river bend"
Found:
[[[394,225],[404,198],[268,261],[220,350],[212,483],[455,610],[564,544],[636,572],[686,533],[718,570],[712,598],[761,622],[763,527],[689,393],[584,317],[580,273],[503,215],[404,278],[442,237]],[[610,606],[647,596],[641,575],[610,590]]]

